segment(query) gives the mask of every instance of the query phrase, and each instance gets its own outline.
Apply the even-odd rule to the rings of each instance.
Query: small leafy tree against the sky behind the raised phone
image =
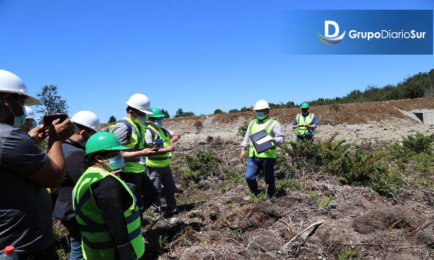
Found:
[[[43,115],[53,115],[53,114],[68,114],[68,105],[66,100],[58,93],[57,85],[45,85],[41,88],[37,97],[40,104],[37,106],[37,113]]]

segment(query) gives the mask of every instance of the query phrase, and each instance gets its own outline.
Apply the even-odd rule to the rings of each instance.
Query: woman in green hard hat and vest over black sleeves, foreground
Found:
[[[145,245],[135,197],[116,176],[124,164],[118,138],[99,132],[86,143],[83,173],[73,190],[73,206],[86,260],[136,260]]]

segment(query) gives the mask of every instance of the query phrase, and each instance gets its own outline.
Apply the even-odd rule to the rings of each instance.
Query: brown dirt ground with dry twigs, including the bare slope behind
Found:
[[[412,109],[434,109],[434,98],[311,110],[320,121],[316,138],[337,133],[337,139],[378,144],[415,132],[434,133],[433,125],[409,113]],[[271,113],[282,123],[286,140],[295,138],[290,122],[299,109]],[[248,188],[243,180],[245,161],[238,159],[242,137],[237,132],[252,119],[252,112],[244,112],[164,121],[166,128],[182,135],[173,161],[178,166],[173,173],[180,213],[143,229],[144,259],[333,260],[342,249],[356,251],[358,259],[434,259],[432,188],[405,185],[395,197],[383,199],[371,188],[342,185],[333,176],[310,173],[298,179],[300,190],[288,188],[276,201],[243,200]],[[196,149],[214,151],[222,167],[235,170],[239,180],[229,186],[218,178],[183,182],[185,167],[179,154]],[[263,179],[259,183],[263,186]],[[336,199],[321,207],[320,201],[329,196]],[[320,224],[307,229],[313,223]]]

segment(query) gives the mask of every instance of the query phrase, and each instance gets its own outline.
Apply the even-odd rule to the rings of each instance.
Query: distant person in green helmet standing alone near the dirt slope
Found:
[[[309,104],[306,102],[302,103],[301,114],[297,114],[296,118],[292,122],[292,128],[296,129],[296,141],[313,141],[317,124],[318,119],[316,118],[316,115],[309,112]]]

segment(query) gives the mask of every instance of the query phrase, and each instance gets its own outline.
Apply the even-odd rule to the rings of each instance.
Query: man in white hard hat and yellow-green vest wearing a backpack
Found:
[[[114,134],[122,146],[129,148],[123,153],[126,166],[119,176],[126,183],[134,185],[131,190],[137,198],[142,225],[146,225],[148,222],[143,218],[143,213],[157,200],[158,191],[146,175],[145,165],[140,161],[156,154],[152,148],[145,148],[146,115],[154,112],[149,98],[143,94],[134,94],[126,104],[126,117],[109,126],[106,131]]]

